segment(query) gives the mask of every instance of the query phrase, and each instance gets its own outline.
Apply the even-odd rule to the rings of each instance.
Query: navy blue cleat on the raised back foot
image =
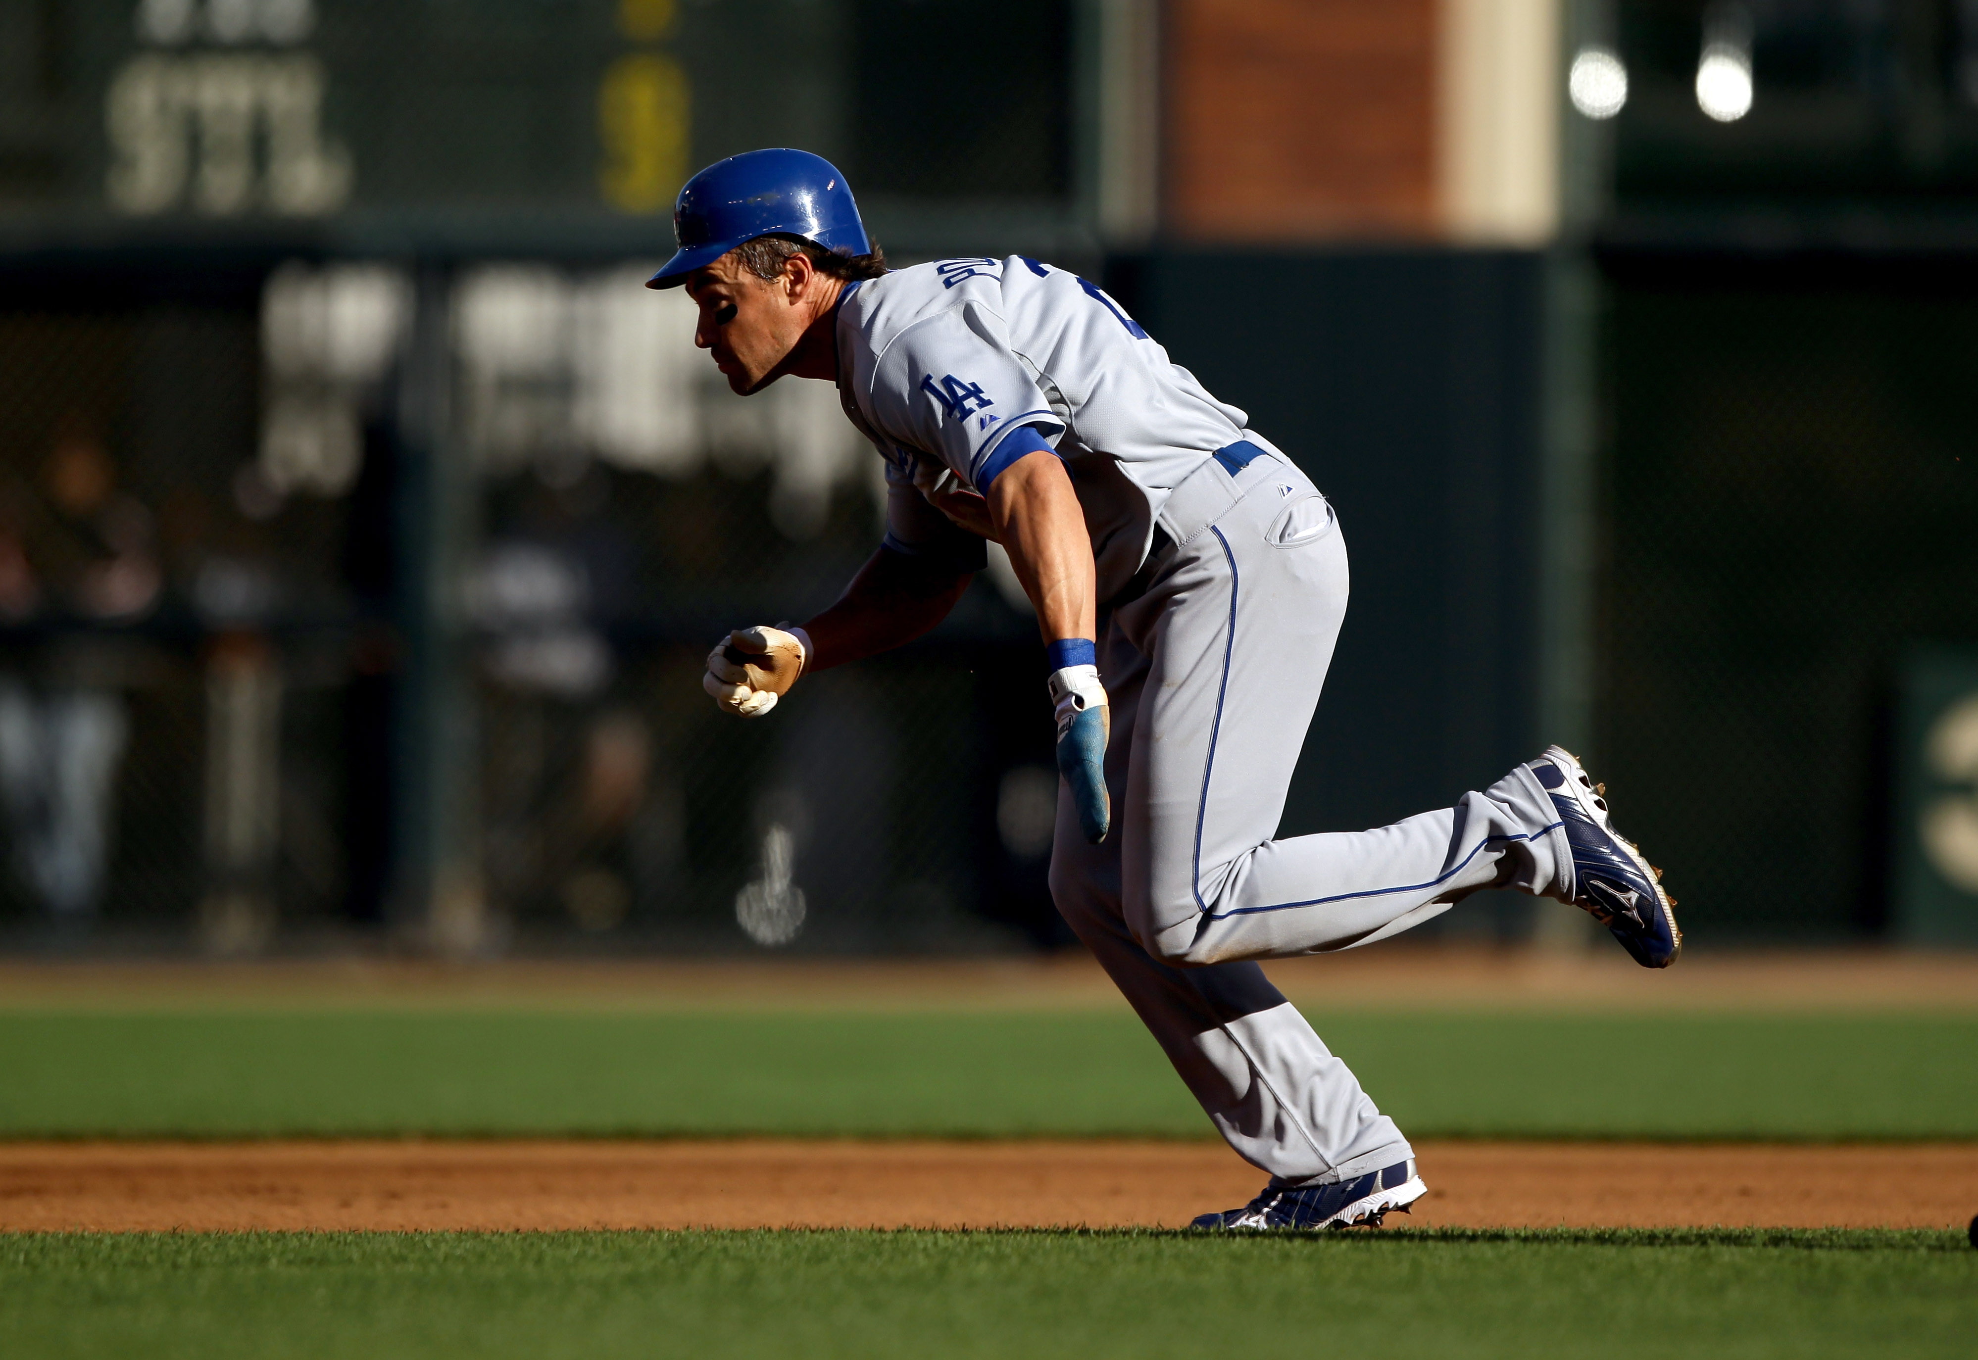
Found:
[[[1606,785],[1588,779],[1573,753],[1557,745],[1525,769],[1553,795],[1573,842],[1573,905],[1606,925],[1644,969],[1667,969],[1683,953],[1675,899],[1662,890],[1662,870],[1614,830]]]

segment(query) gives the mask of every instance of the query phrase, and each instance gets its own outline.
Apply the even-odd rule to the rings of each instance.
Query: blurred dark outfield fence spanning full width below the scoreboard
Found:
[[[870,552],[876,459],[821,383],[732,397],[643,269],[10,275],[16,939],[95,919],[133,947],[307,947],[400,919],[433,874],[485,901],[483,947],[1060,937],[1048,725],[1007,575],[767,722],[700,694],[722,629],[815,611]],[[1286,830],[1448,803],[1529,755],[1543,261],[1112,273],[1305,461],[1353,548]],[[1978,635],[1956,397],[1978,389],[1978,304],[1942,281],[1606,261],[1596,753],[1703,939],[1883,925],[1899,662]],[[1274,293],[1242,344],[1216,328],[1228,287]],[[1444,929],[1525,921],[1505,899]]]

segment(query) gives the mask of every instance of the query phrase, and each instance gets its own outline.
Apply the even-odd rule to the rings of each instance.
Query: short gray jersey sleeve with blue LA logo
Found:
[[[870,399],[888,433],[979,492],[1005,467],[995,453],[1013,431],[1031,427],[1046,441],[1064,433],[1034,372],[1011,352],[1003,318],[973,302],[900,332],[872,374]]]

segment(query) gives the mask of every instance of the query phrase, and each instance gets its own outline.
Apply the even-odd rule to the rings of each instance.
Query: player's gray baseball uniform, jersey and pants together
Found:
[[[886,457],[892,548],[979,563],[934,502],[1044,443],[1072,472],[1104,601],[1114,830],[1086,844],[1060,789],[1066,921],[1276,1182],[1408,1158],[1254,961],[1387,939],[1485,886],[1571,897],[1545,789],[1519,767],[1394,826],[1272,840],[1347,607],[1319,490],[1100,289],[1021,255],[864,283],[837,340],[845,411]]]

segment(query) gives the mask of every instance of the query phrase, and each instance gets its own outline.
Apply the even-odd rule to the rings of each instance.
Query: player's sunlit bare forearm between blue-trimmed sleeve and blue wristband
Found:
[[[1044,640],[1094,637],[1092,538],[1058,457],[1038,449],[1003,468],[989,484],[989,518],[1023,593],[1036,607]]]

